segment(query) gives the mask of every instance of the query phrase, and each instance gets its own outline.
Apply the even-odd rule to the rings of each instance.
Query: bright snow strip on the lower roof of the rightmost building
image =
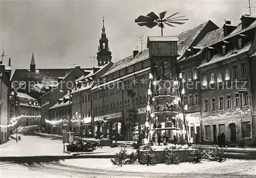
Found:
[[[251,43],[248,43],[244,46],[244,48],[239,49],[239,50],[230,50],[224,56],[222,54],[216,54],[216,55],[212,56],[212,58],[208,62],[206,61],[206,59],[204,59],[198,68],[202,68],[203,66],[210,65],[210,64],[225,60],[227,58],[230,58],[232,56],[236,56],[236,55],[242,54],[244,52],[247,52],[250,49],[250,47],[251,47]]]

